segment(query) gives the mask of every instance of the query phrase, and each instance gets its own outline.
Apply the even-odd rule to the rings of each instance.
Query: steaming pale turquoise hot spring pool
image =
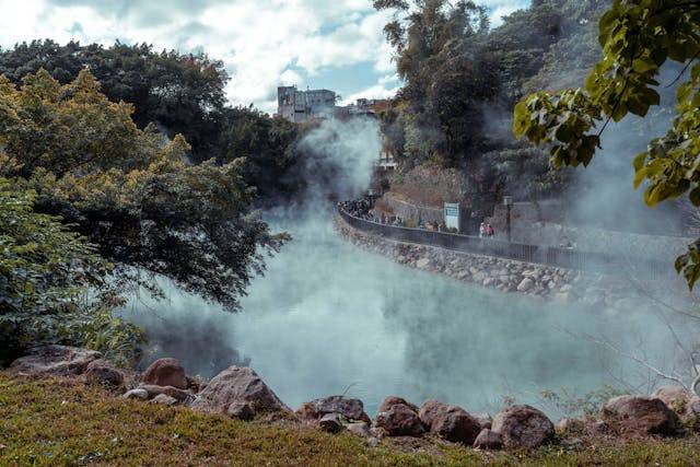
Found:
[[[643,339],[648,357],[665,358],[669,337],[642,312],[556,306],[404,268],[337,237],[330,222],[275,226],[294,241],[255,279],[243,313],[175,291],[131,306],[156,345],[144,363],[176,357],[205,376],[249,364],[290,407],[347,392],[373,415],[388,395],[471,411],[493,411],[502,396],[542,407],[542,389],[585,394],[630,374],[632,363],[567,330],[616,336],[622,348]]]

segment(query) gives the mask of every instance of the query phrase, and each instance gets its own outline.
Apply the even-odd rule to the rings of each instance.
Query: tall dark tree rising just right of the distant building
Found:
[[[486,10],[470,1],[376,1],[393,9],[385,28],[396,49],[398,74],[406,81],[398,93],[399,113],[385,115],[388,147],[407,168],[424,161],[463,166],[481,143],[480,102],[493,96],[497,65],[475,48],[488,30]],[[402,129],[389,130],[399,125]]]

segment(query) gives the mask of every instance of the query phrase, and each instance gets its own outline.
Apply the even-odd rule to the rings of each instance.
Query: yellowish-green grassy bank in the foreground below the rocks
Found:
[[[534,453],[385,441],[246,423],[121,400],[98,387],[0,373],[0,465],[699,465],[700,439],[605,443]],[[595,447],[594,447],[595,446]]]

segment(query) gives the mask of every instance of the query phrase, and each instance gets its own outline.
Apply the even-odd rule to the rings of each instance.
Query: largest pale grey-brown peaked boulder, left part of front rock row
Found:
[[[223,412],[233,402],[250,402],[256,413],[291,411],[249,367],[230,366],[197,395],[192,408]]]

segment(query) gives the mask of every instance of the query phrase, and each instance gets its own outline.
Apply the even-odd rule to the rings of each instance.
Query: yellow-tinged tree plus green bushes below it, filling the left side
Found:
[[[159,294],[159,277],[237,310],[284,240],[249,215],[245,160],[188,164],[184,137],[139,129],[132,112],[88,69],[63,85],[43,69],[20,87],[0,77],[3,360],[47,341],[106,353],[138,341],[109,315],[115,291]]]

